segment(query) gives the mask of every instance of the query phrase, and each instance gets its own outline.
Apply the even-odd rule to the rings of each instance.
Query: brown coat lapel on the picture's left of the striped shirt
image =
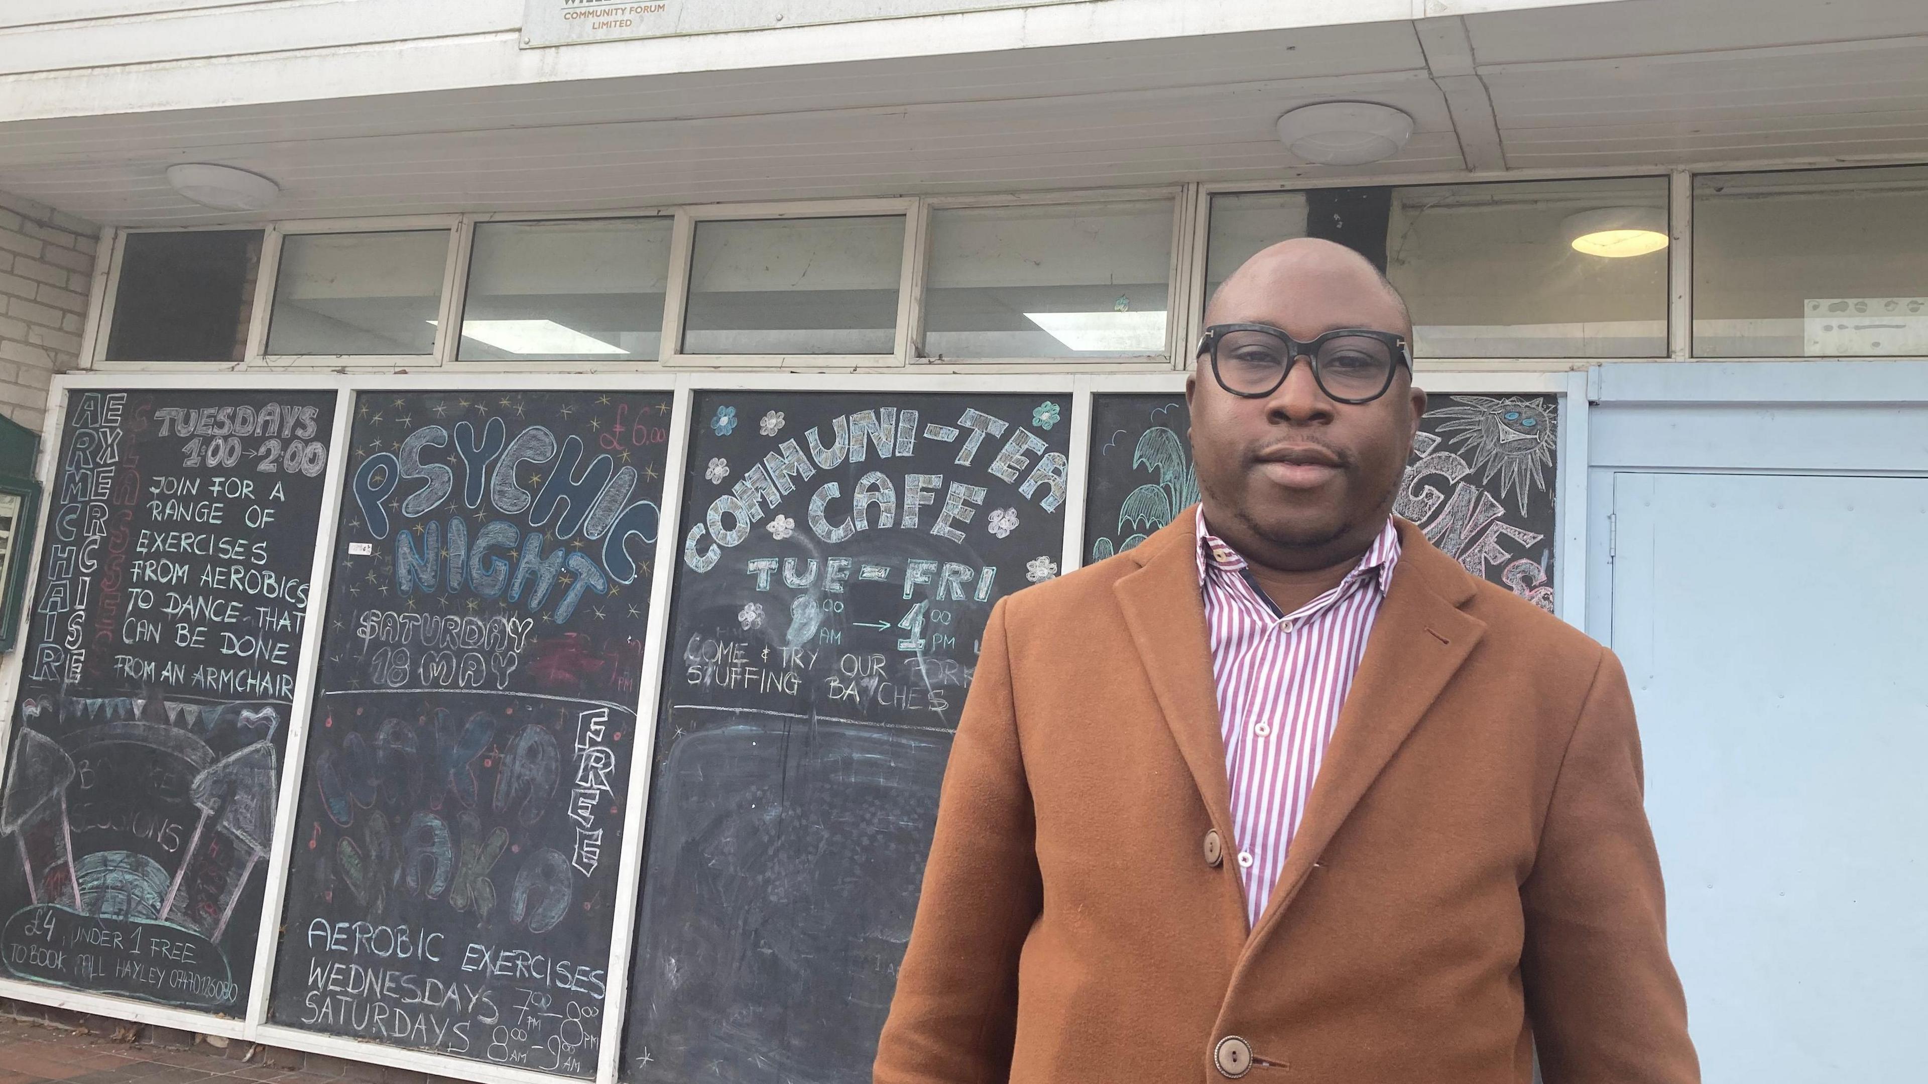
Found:
[[[1211,822],[1232,839],[1218,691],[1213,685],[1211,637],[1205,631],[1205,600],[1199,594],[1193,552],[1195,507],[1178,513],[1178,519],[1132,550],[1139,569],[1120,577],[1112,590]]]

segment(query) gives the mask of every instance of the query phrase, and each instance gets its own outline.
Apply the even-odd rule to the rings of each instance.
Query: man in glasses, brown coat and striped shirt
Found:
[[[1620,664],[1390,519],[1404,303],[1207,324],[1199,509],[991,615],[877,1084],[1697,1080]]]

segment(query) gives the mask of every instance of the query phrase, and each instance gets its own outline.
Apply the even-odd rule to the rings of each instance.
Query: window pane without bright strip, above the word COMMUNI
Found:
[[[904,218],[698,222],[683,353],[891,353]]]

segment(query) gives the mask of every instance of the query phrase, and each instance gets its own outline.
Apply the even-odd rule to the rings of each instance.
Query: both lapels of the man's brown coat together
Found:
[[[1139,567],[1120,577],[1112,590],[1213,826],[1234,839],[1218,692],[1197,584],[1195,515],[1195,509],[1182,511],[1130,550],[1126,556]],[[1398,569],[1313,783],[1305,820],[1249,945],[1278,924],[1313,862],[1486,631],[1461,610],[1477,590],[1473,577],[1417,527],[1404,519],[1396,525]]]

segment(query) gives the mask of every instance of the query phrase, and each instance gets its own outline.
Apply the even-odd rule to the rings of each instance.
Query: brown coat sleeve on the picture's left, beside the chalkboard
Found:
[[[937,806],[937,835],[875,1084],[1006,1080],[1018,951],[1043,907],[1031,793],[1018,748],[1008,602],[983,633]]]

